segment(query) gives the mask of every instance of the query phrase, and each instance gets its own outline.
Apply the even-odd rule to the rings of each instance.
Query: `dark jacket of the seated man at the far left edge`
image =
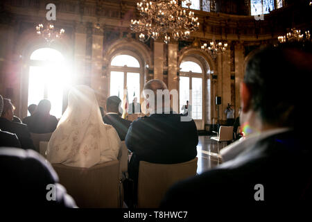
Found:
[[[10,133],[15,133],[19,139],[19,142],[21,143],[21,148],[31,148],[35,150],[33,140],[31,139],[31,134],[29,133],[29,130],[25,124],[16,123],[9,121],[6,118],[0,117],[0,129]]]

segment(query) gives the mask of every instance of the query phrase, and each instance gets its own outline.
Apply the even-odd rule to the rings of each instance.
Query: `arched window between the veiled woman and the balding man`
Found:
[[[110,62],[110,96],[123,101],[123,89],[128,89],[128,100],[140,99],[142,67],[139,60],[126,54],[114,56]]]

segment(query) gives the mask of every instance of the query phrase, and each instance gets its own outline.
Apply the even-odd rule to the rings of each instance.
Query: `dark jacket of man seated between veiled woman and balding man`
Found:
[[[119,138],[125,140],[125,135],[128,133],[131,121],[119,117],[119,114],[107,114],[103,117],[103,121],[106,124],[112,125],[117,131]]]

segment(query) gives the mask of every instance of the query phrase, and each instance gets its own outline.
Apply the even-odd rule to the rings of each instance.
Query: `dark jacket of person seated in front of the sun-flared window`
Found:
[[[52,115],[43,116],[40,113],[34,113],[23,120],[31,133],[53,133],[58,126],[58,119]]]

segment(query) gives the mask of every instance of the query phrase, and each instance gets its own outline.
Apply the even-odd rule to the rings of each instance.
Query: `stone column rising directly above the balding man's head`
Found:
[[[164,42],[154,42],[154,78],[164,80]]]

